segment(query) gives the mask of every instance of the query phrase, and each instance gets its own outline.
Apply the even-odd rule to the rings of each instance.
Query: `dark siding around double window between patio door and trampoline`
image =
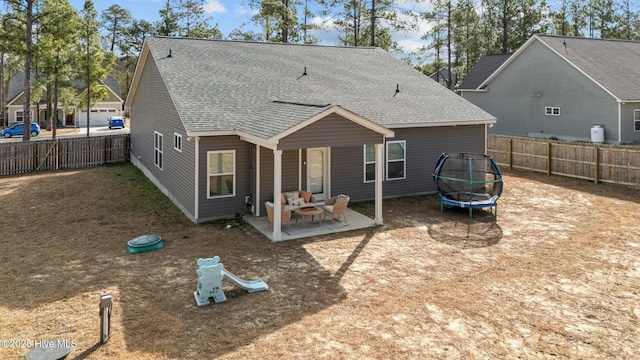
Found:
[[[383,181],[384,197],[432,193],[435,187],[431,174],[440,154],[485,151],[484,125],[394,131],[396,137],[387,141],[406,141],[406,179]],[[332,195],[348,194],[353,200],[374,198],[375,183],[364,182],[362,145],[332,148],[331,175]]]

